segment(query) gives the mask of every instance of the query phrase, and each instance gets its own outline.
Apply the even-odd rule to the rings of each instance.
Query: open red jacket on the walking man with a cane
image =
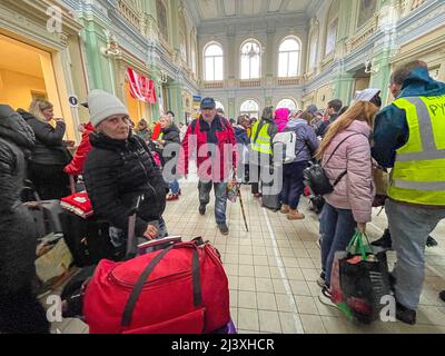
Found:
[[[198,177],[201,179],[210,179],[214,182],[228,181],[230,177],[230,170],[236,171],[237,167],[237,148],[235,131],[231,125],[219,116],[215,117],[215,120],[219,120],[221,130],[216,131],[218,139],[218,150],[216,155],[216,164],[219,165],[214,167],[214,160],[210,159],[207,141],[207,131],[200,129],[200,119],[196,119],[189,125],[186,136],[181,144],[181,150],[179,154],[178,172],[180,175],[188,174],[188,164],[192,156],[197,157]]]

